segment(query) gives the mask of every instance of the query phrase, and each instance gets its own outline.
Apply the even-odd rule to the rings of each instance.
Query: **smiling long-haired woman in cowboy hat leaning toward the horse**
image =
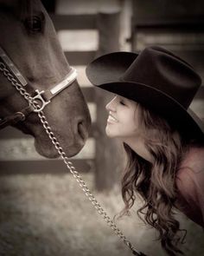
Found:
[[[160,47],[116,52],[91,62],[93,85],[115,94],[106,134],[124,143],[124,211],[143,198],[140,218],[156,228],[169,255],[185,236],[175,208],[204,227],[204,127],[188,108],[201,86],[191,65]]]

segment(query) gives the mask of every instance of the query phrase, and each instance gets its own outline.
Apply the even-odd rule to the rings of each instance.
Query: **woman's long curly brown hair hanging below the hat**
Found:
[[[136,193],[139,194],[143,206],[137,210],[137,215],[156,228],[158,240],[169,255],[183,254],[178,245],[185,239],[186,230],[180,229],[180,223],[175,219],[175,178],[188,143],[168,121],[139,104],[137,108],[146,138],[145,146],[154,161],[144,160],[124,143],[128,161],[122,179],[125,206],[121,215],[129,213]]]

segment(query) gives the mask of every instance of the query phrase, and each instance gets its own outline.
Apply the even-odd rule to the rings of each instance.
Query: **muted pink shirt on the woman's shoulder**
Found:
[[[204,227],[204,148],[191,148],[177,173],[177,207]]]

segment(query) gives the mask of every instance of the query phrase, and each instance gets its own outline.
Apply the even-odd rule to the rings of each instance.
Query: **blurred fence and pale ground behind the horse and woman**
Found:
[[[92,131],[74,166],[113,218],[123,208],[122,148],[105,136],[105,104],[111,96],[92,88],[88,62],[117,51],[160,45],[190,62],[204,81],[204,2],[200,0],[49,0],[42,1],[92,115]],[[204,87],[191,108],[204,118]],[[60,159],[35,152],[33,139],[14,128],[0,132],[0,255],[131,255],[92,208]],[[165,255],[156,233],[137,218],[117,220],[129,240],[148,255]],[[204,255],[201,227],[177,213],[188,231],[182,250]]]

